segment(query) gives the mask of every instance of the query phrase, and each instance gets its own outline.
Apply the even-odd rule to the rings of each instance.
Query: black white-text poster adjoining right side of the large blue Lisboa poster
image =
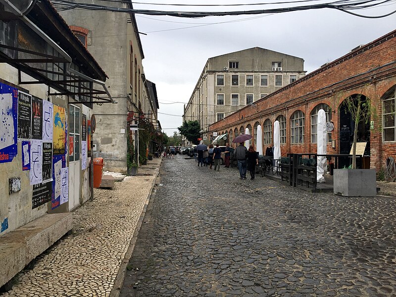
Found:
[[[18,92],[18,140],[32,138],[32,96]]]

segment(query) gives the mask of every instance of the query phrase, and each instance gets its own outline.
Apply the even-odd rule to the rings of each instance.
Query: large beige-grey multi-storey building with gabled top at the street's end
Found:
[[[304,60],[262,48],[211,57],[184,109],[184,121],[209,125],[305,75]],[[203,136],[205,137],[205,136]]]

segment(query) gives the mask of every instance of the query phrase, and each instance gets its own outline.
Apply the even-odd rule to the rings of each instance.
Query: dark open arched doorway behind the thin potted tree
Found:
[[[367,98],[361,94],[351,95],[340,104],[340,153],[349,154],[353,145],[353,134],[355,130],[355,120],[353,111],[357,110],[358,104],[360,108],[366,108]],[[349,101],[349,103],[348,103]],[[349,104],[349,107],[348,107]],[[364,159],[361,163],[358,159],[357,168],[370,168],[370,119],[360,119],[357,125],[357,143],[365,143]],[[364,145],[363,145],[364,146]],[[358,145],[356,145],[358,148]],[[339,165],[348,167],[350,165],[350,158],[340,158]]]

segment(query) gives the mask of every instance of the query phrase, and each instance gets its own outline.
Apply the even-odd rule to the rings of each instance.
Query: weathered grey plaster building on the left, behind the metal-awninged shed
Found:
[[[111,5],[133,8],[132,2],[126,1]],[[127,173],[129,125],[149,119],[158,126],[157,106],[152,104],[142,65],[144,52],[135,16],[84,9],[64,10],[60,14],[103,67],[110,94],[117,101],[111,106],[94,104],[97,120],[94,156],[104,158],[104,170]],[[132,133],[136,144],[138,134]],[[138,154],[138,146],[135,149]]]

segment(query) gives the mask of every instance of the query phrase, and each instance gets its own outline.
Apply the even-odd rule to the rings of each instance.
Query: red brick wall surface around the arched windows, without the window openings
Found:
[[[335,126],[332,139],[336,140],[335,148],[329,143],[327,151],[339,153],[339,106],[348,96],[362,94],[370,98],[377,107],[377,116],[371,118],[375,123],[374,130],[370,133],[370,148],[371,167],[380,169],[387,155],[396,156],[396,142],[382,143],[381,129],[381,98],[396,85],[395,49],[396,30],[270,94],[266,99],[256,101],[254,104],[257,108],[246,106],[239,112],[227,116],[225,120],[212,124],[209,133],[234,130],[235,127],[239,130],[242,125],[246,127],[247,124],[253,127],[256,121],[262,126],[267,118],[274,123],[276,117],[282,114],[286,117],[287,123],[287,140],[286,144],[281,146],[282,155],[291,152],[314,153],[316,144],[311,144],[310,114],[317,104],[326,103],[332,110]],[[305,114],[304,144],[291,144],[290,119],[296,110],[301,110]]]

